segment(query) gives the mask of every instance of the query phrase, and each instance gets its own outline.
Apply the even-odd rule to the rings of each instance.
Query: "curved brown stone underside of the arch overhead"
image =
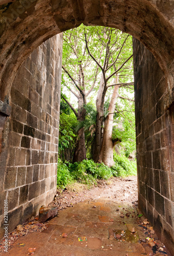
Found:
[[[172,7],[173,1],[16,0],[14,3],[8,2],[8,0],[0,0],[0,4],[4,3],[0,7],[0,78],[2,79],[0,86],[4,96],[10,90],[9,76],[12,80],[22,61],[38,45],[47,38],[77,27],[81,23],[116,27],[132,34],[153,52],[164,71],[174,59],[174,28],[169,23],[173,15],[171,10],[174,9],[169,6]],[[161,12],[156,5],[158,9],[162,9]]]

